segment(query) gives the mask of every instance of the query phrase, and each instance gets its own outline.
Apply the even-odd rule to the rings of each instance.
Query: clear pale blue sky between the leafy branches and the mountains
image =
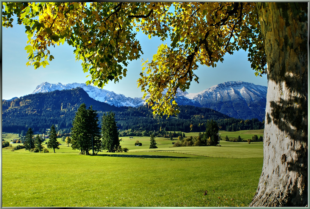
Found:
[[[27,36],[24,32],[23,25],[14,24],[13,28],[8,29],[2,27],[2,99],[28,95],[42,82],[67,84],[85,83],[89,80],[86,78],[88,73],[83,73],[81,61],[75,61],[74,48],[67,44],[50,49],[55,60],[46,68],[35,70],[33,66],[26,67],[28,59],[24,48]],[[137,34],[137,39],[144,52],[141,58],[152,60],[161,43],[160,39],[148,39],[142,33]],[[164,43],[166,42],[168,41]],[[247,52],[236,51],[233,55],[225,55],[223,63],[217,63],[215,68],[200,66],[195,71],[199,84],[192,82],[187,92],[196,93],[227,81],[245,81],[267,86],[267,76],[256,77],[247,59]],[[137,87],[141,64],[141,59],[130,62],[127,76],[116,84],[109,83],[104,89],[127,97],[141,97],[143,93]]]

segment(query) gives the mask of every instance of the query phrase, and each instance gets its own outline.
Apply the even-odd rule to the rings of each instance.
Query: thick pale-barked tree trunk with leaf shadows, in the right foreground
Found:
[[[308,3],[257,3],[267,56],[263,170],[250,206],[308,205]]]

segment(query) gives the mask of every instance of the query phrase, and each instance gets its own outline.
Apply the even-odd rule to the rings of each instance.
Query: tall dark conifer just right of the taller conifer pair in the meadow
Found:
[[[121,139],[118,138],[117,125],[115,121],[115,113],[110,111],[104,114],[101,120],[102,148],[108,152],[115,152],[120,144]]]

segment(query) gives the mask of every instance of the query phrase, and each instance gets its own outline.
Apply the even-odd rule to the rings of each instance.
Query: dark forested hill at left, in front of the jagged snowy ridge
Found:
[[[90,98],[82,88],[30,94],[12,101],[2,101],[2,130],[20,132],[31,127],[41,132],[41,129],[58,124],[58,130],[70,131],[74,113],[82,103],[87,107],[93,105],[98,112],[123,111]]]

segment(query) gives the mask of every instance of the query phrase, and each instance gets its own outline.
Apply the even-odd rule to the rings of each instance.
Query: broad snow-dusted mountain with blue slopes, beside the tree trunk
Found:
[[[189,93],[188,99],[201,107],[219,111],[233,118],[264,120],[267,87],[242,81],[230,81],[212,86],[198,93]]]

